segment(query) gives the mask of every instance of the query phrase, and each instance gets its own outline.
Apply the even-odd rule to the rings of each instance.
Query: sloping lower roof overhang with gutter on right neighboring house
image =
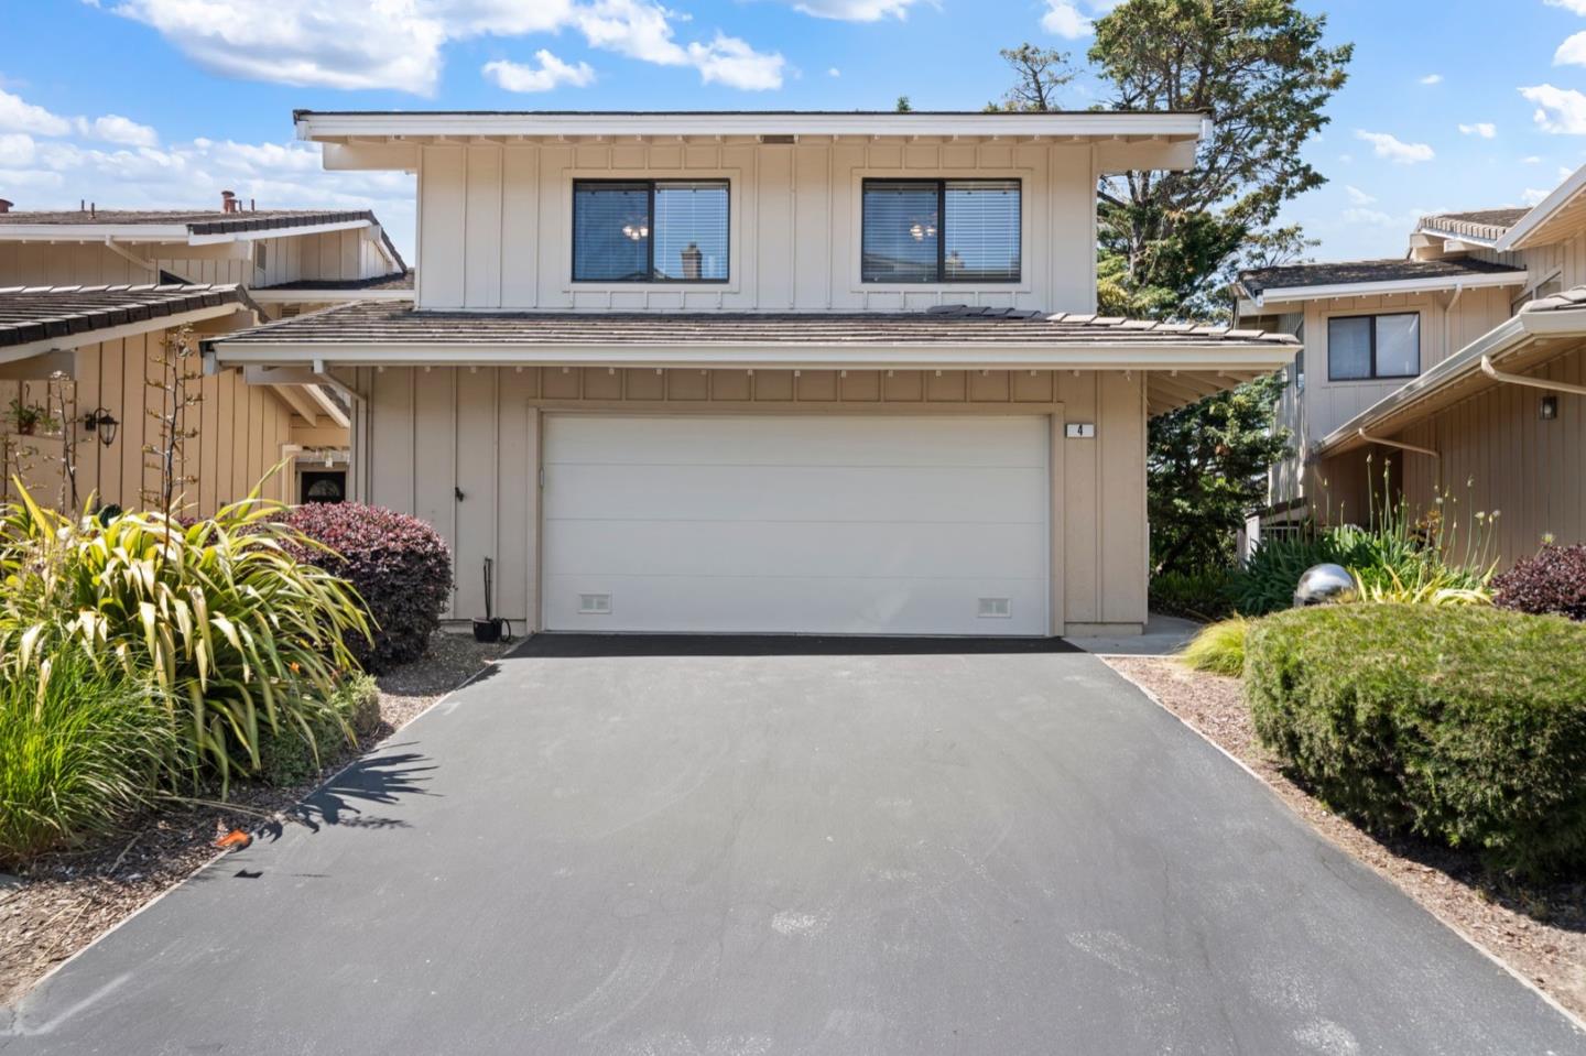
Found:
[[[1523,311],[1321,438],[1313,457],[1331,458],[1367,447],[1372,441],[1362,433],[1394,434],[1491,388],[1497,382],[1483,373],[1483,360],[1521,371],[1581,341],[1586,341],[1586,312]]]

